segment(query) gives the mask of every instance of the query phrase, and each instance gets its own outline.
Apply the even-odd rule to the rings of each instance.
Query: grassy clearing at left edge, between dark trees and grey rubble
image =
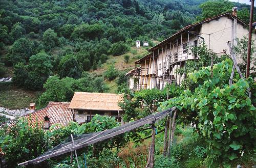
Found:
[[[17,88],[11,83],[0,83],[0,93],[0,107],[20,109],[28,108],[31,102],[37,103],[42,92]]]

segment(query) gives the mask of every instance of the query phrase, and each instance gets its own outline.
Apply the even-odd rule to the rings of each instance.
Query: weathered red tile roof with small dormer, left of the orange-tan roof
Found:
[[[28,119],[29,124],[35,126],[39,124],[41,127],[44,125],[44,118],[50,118],[50,126],[59,124],[54,129],[59,129],[62,126],[67,126],[72,121],[73,116],[69,107],[69,102],[49,102],[47,107],[36,110],[35,112],[24,116]]]

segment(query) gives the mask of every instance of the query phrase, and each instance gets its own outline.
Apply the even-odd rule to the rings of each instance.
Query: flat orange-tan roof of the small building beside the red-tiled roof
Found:
[[[75,92],[69,108],[91,110],[121,110],[118,102],[120,94]]]

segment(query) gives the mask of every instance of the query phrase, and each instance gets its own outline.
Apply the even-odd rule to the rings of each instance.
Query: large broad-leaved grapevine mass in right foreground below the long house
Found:
[[[255,82],[245,81],[235,73],[234,83],[229,86],[231,70],[232,62],[226,60],[214,66],[213,78],[210,67],[195,71],[189,74],[189,78],[199,85],[195,92],[186,90],[180,97],[161,105],[165,108],[178,107],[180,117],[196,123],[209,146],[210,166],[216,166],[216,162],[226,166],[231,160],[242,157],[242,151],[254,148],[256,109],[248,97],[247,88],[250,85],[253,90]]]

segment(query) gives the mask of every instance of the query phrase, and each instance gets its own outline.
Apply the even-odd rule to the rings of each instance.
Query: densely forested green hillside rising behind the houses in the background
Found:
[[[53,87],[59,85],[58,90],[68,91],[55,98],[44,93],[42,106],[48,101],[69,101],[74,91],[106,92],[110,88],[105,81],[118,75],[122,80],[117,85],[124,86],[124,72],[117,72],[116,60],[106,61],[122,55],[125,63],[131,63],[146,54],[146,48],[137,54],[133,48],[136,40],[148,41],[152,46],[154,40],[161,41],[188,24],[233,7],[233,3],[218,1],[220,4],[214,2],[214,7],[219,10],[212,10],[212,4],[205,2],[1,1],[0,77],[13,76],[13,86],[25,90],[56,91]],[[246,18],[248,6],[239,6],[246,7],[242,10]],[[129,51],[130,55],[123,55]],[[102,64],[106,72],[91,73],[102,68]],[[127,67],[126,71],[131,69]],[[43,88],[52,75],[58,75],[56,81],[49,79]],[[85,84],[83,81],[88,78],[91,80]]]

